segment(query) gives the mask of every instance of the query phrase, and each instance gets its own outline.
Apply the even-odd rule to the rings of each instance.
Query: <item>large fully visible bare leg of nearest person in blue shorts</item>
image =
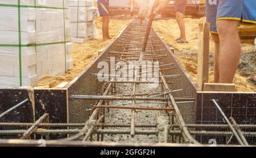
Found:
[[[220,79],[219,83],[232,84],[241,57],[241,43],[237,20],[218,20],[220,37]]]

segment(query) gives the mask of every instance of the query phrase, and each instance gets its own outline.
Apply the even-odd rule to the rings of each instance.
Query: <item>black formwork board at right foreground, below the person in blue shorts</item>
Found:
[[[217,101],[226,117],[233,117],[237,124],[256,124],[256,93],[221,92],[199,92],[197,94],[197,124],[227,124],[212,99]],[[197,128],[197,130],[201,131],[202,129]],[[208,128],[207,130],[216,131],[216,128]],[[230,129],[227,128],[223,131],[230,131]],[[251,130],[243,131],[253,132]],[[197,136],[197,140],[204,144],[208,144],[210,139],[216,139],[218,144],[225,144],[229,138],[230,136]],[[249,144],[256,144],[255,137],[247,137],[246,139]],[[237,143],[237,140],[233,139],[232,143]]]

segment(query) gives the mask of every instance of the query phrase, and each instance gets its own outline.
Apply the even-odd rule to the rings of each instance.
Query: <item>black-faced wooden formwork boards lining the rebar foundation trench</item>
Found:
[[[123,47],[128,47],[127,44],[124,45],[124,40],[127,39],[127,34],[131,34],[131,28],[135,28],[134,23],[138,23],[137,19],[134,19],[129,26],[121,32],[121,34],[110,44],[104,52],[97,57],[97,59],[92,63],[92,66],[86,68],[79,76],[77,76],[72,82],[70,82],[63,89],[0,89],[0,114],[13,107],[14,105],[28,99],[19,108],[15,109],[10,114],[5,115],[0,118],[0,137],[2,139],[18,139],[20,138],[19,132],[23,131],[10,131],[10,130],[28,130],[28,127],[32,126],[36,120],[40,119],[44,114],[49,114],[48,122],[46,124],[40,124],[39,127],[47,127],[46,131],[33,131],[32,133],[36,135],[36,138],[40,138],[40,135],[47,135],[48,139],[61,139],[67,138],[68,136],[75,135],[81,131],[78,127],[84,127],[85,124],[90,123],[89,118],[93,118],[93,107],[98,103],[107,103],[107,101],[97,100],[97,99],[74,99],[75,95],[102,95],[105,92],[104,87],[106,83],[97,80],[97,74],[100,69],[97,68],[100,61],[107,61],[110,64],[109,57],[115,56],[119,59],[120,55],[118,53],[125,53],[126,49]],[[135,24],[136,25],[136,24]],[[142,23],[142,26],[146,26],[146,21]],[[136,38],[143,40],[143,35],[136,36]],[[178,78],[168,78],[167,82],[173,82],[169,84],[171,90],[182,89],[179,92],[172,93],[174,98],[189,97],[193,98],[194,102],[184,103],[179,105],[179,110],[181,112],[181,117],[185,120],[185,129],[188,129],[189,134],[197,140],[197,143],[183,140],[187,134],[184,134],[184,129],[180,130],[180,122],[176,122],[179,115],[175,115],[176,119],[170,119],[172,123],[169,122],[168,126],[168,141],[164,146],[171,144],[168,143],[185,143],[185,144],[195,144],[201,145],[208,144],[210,139],[216,139],[217,144],[225,144],[226,142],[232,142],[232,144],[239,144],[236,137],[233,136],[233,132],[227,123],[223,121],[223,115],[218,111],[217,107],[214,106],[214,101],[217,101],[218,106],[224,111],[226,117],[233,117],[239,127],[242,129],[242,135],[245,135],[247,142],[250,145],[254,145],[256,142],[255,138],[255,108],[256,108],[256,93],[214,93],[214,92],[202,92],[196,82],[192,80],[189,73],[183,68],[183,66],[176,59],[174,52],[169,48],[167,44],[160,38],[160,36],[154,30],[151,30],[151,42],[154,44],[154,52],[157,55],[162,55],[159,62],[164,64],[173,65],[174,69],[164,70],[164,74],[179,74]],[[151,44],[152,44],[151,43]],[[124,45],[124,46],[123,46]],[[131,52],[129,50],[129,52]],[[138,50],[137,50],[138,52]],[[109,84],[109,83],[108,83]],[[115,85],[115,84],[113,84]],[[164,95],[168,98],[168,95]],[[174,102],[173,102],[174,103]],[[172,104],[173,104],[172,103]],[[104,104],[102,104],[104,105]],[[172,107],[172,106],[167,106]],[[88,111],[88,109],[91,109]],[[97,110],[99,113],[104,113],[102,109]],[[133,110],[131,110],[133,111]],[[175,110],[174,110],[175,112]],[[174,114],[172,114],[174,115]],[[97,115],[98,116],[98,115]],[[88,120],[89,119],[89,120]],[[96,120],[100,119],[100,116]],[[47,120],[47,119],[46,119]],[[94,120],[94,119],[93,119]],[[86,122],[86,123],[85,123]],[[16,123],[16,124],[15,124]],[[24,124],[18,124],[24,123]],[[27,123],[27,124],[26,124]],[[28,124],[30,123],[30,124]],[[43,123],[43,122],[41,122]],[[48,123],[48,124],[47,124]],[[93,124],[93,123],[92,123]],[[27,126],[24,126],[27,125]],[[29,125],[29,126],[28,126]],[[95,125],[95,124],[94,124]],[[126,124],[121,124],[122,126],[127,126]],[[87,126],[87,125],[86,125]],[[93,126],[93,125],[92,125]],[[89,127],[92,127],[89,126]],[[115,131],[115,130],[104,130],[104,126],[107,124],[100,124],[101,130],[97,130],[96,134],[98,138],[93,138],[91,136],[90,140],[93,142],[81,143],[81,142],[70,142],[56,140],[49,141],[49,145],[134,145],[129,143],[116,143],[109,144],[100,142],[100,136],[104,134],[115,134],[115,132],[121,132],[123,134],[130,134],[130,131]],[[110,126],[110,125],[109,125]],[[114,125],[112,125],[114,126]],[[116,125],[117,126],[117,125]],[[128,125],[130,126],[130,124]],[[139,124],[135,124],[140,126]],[[143,126],[143,125],[141,125]],[[146,126],[146,125],[145,125]],[[155,127],[155,124],[151,124]],[[183,128],[183,127],[182,127]],[[174,130],[176,129],[176,130]],[[8,131],[6,131],[8,130]],[[50,130],[50,131],[47,131]],[[52,130],[52,131],[51,131]],[[59,131],[54,131],[59,130]],[[1,132],[2,131],[2,132]],[[208,132],[207,132],[208,131]],[[11,134],[5,134],[5,132],[10,132]],[[17,132],[17,133],[15,133]],[[136,131],[137,134],[146,135],[157,135],[156,131]],[[14,136],[14,133],[16,134]],[[90,134],[85,132],[85,134]],[[180,140],[175,142],[172,139],[172,135],[175,135]],[[185,136],[184,136],[185,135]],[[232,136],[232,137],[230,137]],[[34,138],[34,137],[33,137]],[[230,139],[230,141],[229,141]],[[68,139],[67,139],[68,140]],[[28,140],[20,140],[20,143],[12,143],[10,140],[0,140],[0,145],[36,145],[36,142],[31,142]],[[241,142],[240,142],[241,144]],[[159,144],[148,144],[151,146]],[[174,145],[174,144],[172,144]],[[176,144],[177,145],[177,144]],[[242,145],[242,144],[241,144]],[[245,145],[245,144],[243,144]],[[192,145],[193,146],[193,145]]]

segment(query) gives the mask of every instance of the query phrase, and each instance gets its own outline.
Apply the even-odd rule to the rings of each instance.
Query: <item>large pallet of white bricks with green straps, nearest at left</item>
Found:
[[[0,88],[72,69],[68,0],[0,0]]]

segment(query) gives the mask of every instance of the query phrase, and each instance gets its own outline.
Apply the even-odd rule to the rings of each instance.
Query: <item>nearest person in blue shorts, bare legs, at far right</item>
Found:
[[[164,7],[159,3],[154,14]],[[256,1],[206,0],[206,10],[215,43],[214,82],[231,84],[241,58],[238,26],[240,23],[256,23]]]

